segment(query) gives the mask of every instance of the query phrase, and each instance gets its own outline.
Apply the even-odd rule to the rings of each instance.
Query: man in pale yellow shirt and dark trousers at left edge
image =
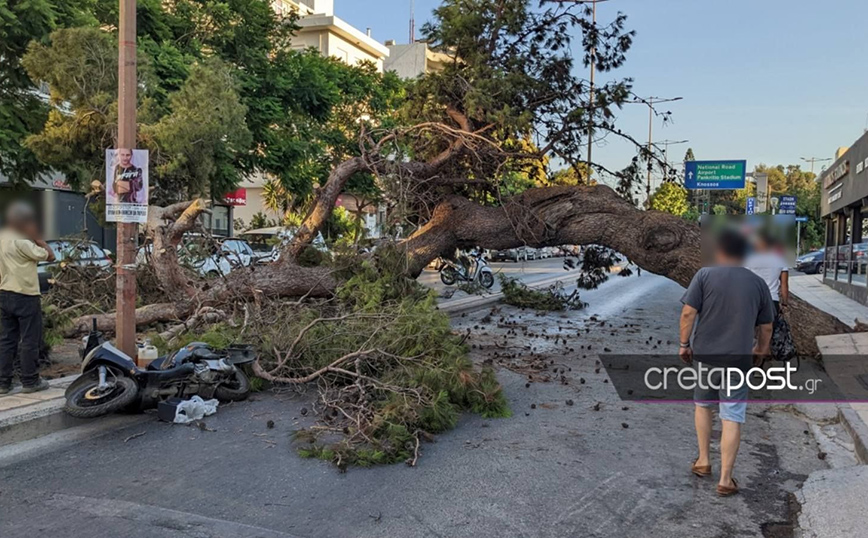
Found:
[[[0,394],[12,390],[12,365],[21,358],[22,392],[48,388],[39,377],[42,308],[37,264],[54,261],[54,252],[39,236],[36,214],[23,202],[6,211],[0,231]]]

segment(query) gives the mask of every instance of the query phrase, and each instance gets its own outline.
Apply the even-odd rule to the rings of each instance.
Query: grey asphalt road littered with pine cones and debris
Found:
[[[499,370],[514,416],[466,415],[424,446],[416,468],[341,474],[299,458],[289,437],[307,423],[301,409],[311,396],[290,393],[221,407],[207,419],[214,431],[149,417],[24,454],[0,450],[0,536],[762,536],[789,517],[789,493],[826,465],[801,418],[751,408],[736,468],[743,492],[719,499],[713,479],[688,471],[692,407],[622,402],[605,371],[596,371],[604,347],[642,352],[650,337],[674,352],[666,341],[677,339],[681,293],[643,274],[583,293],[590,306],[579,312],[536,316],[502,307],[495,316],[539,335],[509,340],[515,353],[550,353],[570,368],[569,384],[526,387],[526,375]],[[457,330],[473,330],[477,361],[506,332],[496,319],[484,320],[487,313],[455,320]],[[626,323],[640,328],[615,329]],[[544,337],[555,334],[569,343]]]

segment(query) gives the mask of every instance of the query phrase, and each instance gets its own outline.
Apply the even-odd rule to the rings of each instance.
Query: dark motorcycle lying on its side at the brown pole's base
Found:
[[[66,389],[64,410],[93,418],[121,409],[154,408],[171,397],[240,401],[250,394],[250,380],[239,368],[256,360],[253,346],[214,350],[194,342],[139,368],[123,351],[106,342],[96,329],[88,335],[81,376]]]

